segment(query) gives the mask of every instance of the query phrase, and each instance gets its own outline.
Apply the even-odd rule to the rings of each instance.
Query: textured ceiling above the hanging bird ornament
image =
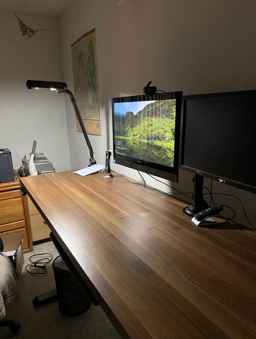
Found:
[[[26,1],[26,2],[25,2]],[[73,0],[0,0],[0,9],[59,16]],[[25,6],[26,5],[26,6]]]

